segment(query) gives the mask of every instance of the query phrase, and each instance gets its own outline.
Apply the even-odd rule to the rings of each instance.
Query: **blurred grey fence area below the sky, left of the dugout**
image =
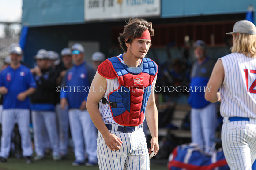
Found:
[[[19,43],[20,31],[19,22],[0,22],[0,65],[8,56],[10,46]]]

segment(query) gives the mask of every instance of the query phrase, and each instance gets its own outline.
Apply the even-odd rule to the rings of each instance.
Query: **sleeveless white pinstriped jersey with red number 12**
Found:
[[[225,71],[220,88],[222,117],[256,118],[256,58],[231,53],[220,59]]]

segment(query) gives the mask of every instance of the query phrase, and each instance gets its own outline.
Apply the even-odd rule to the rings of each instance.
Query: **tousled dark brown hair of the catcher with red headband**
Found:
[[[120,33],[118,37],[118,41],[124,52],[127,51],[125,43],[132,43],[134,38],[141,37],[143,32],[147,29],[149,30],[150,36],[154,36],[152,22],[148,22],[145,19],[130,18],[129,22],[124,25],[123,33]]]

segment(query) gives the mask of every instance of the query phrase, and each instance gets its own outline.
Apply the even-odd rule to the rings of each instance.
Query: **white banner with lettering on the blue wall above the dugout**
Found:
[[[160,16],[161,0],[84,0],[85,21]]]

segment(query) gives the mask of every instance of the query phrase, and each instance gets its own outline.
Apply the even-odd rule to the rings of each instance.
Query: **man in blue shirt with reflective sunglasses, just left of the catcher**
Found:
[[[96,70],[83,60],[84,48],[81,44],[76,43],[71,49],[74,65],[63,78],[60,105],[62,109],[69,109],[70,130],[75,148],[75,161],[72,165],[84,164],[85,145],[88,155],[86,165],[95,166],[98,162],[96,127],[86,109],[86,101]]]

